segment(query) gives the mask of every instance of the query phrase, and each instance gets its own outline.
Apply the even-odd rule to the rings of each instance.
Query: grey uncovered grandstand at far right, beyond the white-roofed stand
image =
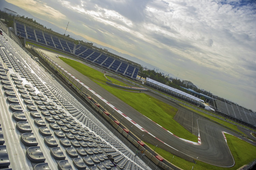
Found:
[[[213,96],[215,111],[246,126],[256,128],[256,113],[224,98]]]

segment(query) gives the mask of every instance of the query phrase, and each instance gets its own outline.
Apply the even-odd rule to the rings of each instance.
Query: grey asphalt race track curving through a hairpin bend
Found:
[[[45,49],[42,51],[53,61],[57,62],[61,67],[65,68],[65,70],[67,70],[69,73],[72,73],[72,75],[74,75],[84,84],[86,84],[95,92],[97,92],[100,96],[109,101],[112,105],[117,107],[120,111],[125,113],[125,115],[130,117],[144,129],[146,129],[150,134],[155,136],[154,138],[149,133],[143,132],[135,126],[133,126],[131,132],[138,136],[139,138],[141,138],[141,136],[144,134],[144,141],[147,141],[154,145],[158,144],[158,147],[164,148],[166,151],[172,152],[173,154],[185,158],[189,161],[193,161],[193,159],[196,159],[198,157],[199,161],[206,162],[215,166],[231,167],[234,165],[234,159],[230,153],[229,147],[227,146],[222,131],[241,138],[241,136],[239,136],[238,134],[235,134],[234,132],[229,131],[220,125],[212,123],[211,121],[203,118],[200,115],[197,115],[196,113],[192,113],[187,109],[181,108],[177,104],[172,103],[169,100],[166,100],[165,98],[161,98],[150,92],[145,92],[147,94],[150,94],[152,97],[162,100],[166,104],[173,105],[174,107],[178,108],[179,111],[174,117],[174,119],[194,135],[197,136],[200,133],[200,139],[202,142],[201,144],[185,142],[184,140],[177,138],[177,136],[170,134],[170,132],[155,124],[153,121],[151,121],[150,119],[148,119],[147,117],[145,117],[144,115],[130,107],[128,104],[118,99],[113,94],[109,93],[107,90],[101,88],[101,86],[91,81],[90,78],[84,76],[83,74],[73,69],[65,62],[63,62],[61,59],[57,58],[56,55],[59,55],[59,57],[66,58],[71,57],[64,56],[63,54],[57,54],[52,51],[46,51]],[[71,59],[82,62],[75,58]],[[88,63],[86,65],[88,65]],[[94,67],[92,65],[90,66]],[[94,68],[97,69],[96,67]],[[102,68],[99,68],[98,70],[102,72]],[[113,117],[115,117],[116,120],[119,121],[122,118],[120,114],[113,114]],[[126,121],[126,119],[123,119],[121,123],[128,128],[133,125],[131,122]],[[243,140],[246,139],[244,138]],[[249,140],[247,141],[255,145],[255,143]]]

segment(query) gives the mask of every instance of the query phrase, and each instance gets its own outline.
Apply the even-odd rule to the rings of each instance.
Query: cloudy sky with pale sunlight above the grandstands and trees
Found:
[[[5,0],[256,111],[254,0]]]

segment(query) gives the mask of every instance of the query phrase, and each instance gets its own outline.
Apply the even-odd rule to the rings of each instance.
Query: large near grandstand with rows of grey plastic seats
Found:
[[[0,96],[0,169],[147,169],[7,34],[0,36]]]

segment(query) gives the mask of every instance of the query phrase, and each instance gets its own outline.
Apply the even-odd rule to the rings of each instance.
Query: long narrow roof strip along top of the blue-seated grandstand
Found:
[[[67,40],[67,41],[69,41],[69,42],[75,43],[75,41],[78,41],[80,45],[84,45],[84,46],[89,47],[89,48],[91,48],[91,49],[97,50],[97,51],[99,51],[100,53],[105,53],[105,54],[110,55],[110,56],[112,56],[112,57],[114,57],[114,58],[117,58],[117,59],[119,59],[119,60],[122,60],[122,61],[125,61],[125,62],[127,62],[127,63],[130,63],[130,64],[132,64],[132,65],[134,65],[134,66],[137,66],[137,67],[140,67],[140,66],[141,66],[140,64],[138,64],[138,63],[136,63],[136,62],[130,61],[130,60],[126,59],[126,58],[123,58],[123,57],[120,57],[120,56],[118,56],[118,55],[116,55],[116,54],[110,53],[109,51],[106,51],[106,50],[103,50],[103,49],[98,48],[98,47],[96,47],[96,46],[93,46],[91,43],[83,42],[83,41],[81,41],[81,40],[76,40],[76,39],[70,38],[70,37],[68,37],[68,36],[59,34],[59,33],[54,32],[54,31],[52,31],[52,30],[50,30],[50,29],[48,29],[48,28],[39,26],[38,24],[31,23],[31,22],[29,22],[29,21],[27,21],[27,20],[25,20],[25,19],[20,18],[20,17],[15,17],[14,20],[16,20],[16,21],[18,21],[18,22],[21,22],[21,23],[25,23],[25,24],[27,24],[27,25],[29,25],[29,26],[31,26],[31,27],[37,28],[38,30],[42,30],[42,31],[47,32],[47,33],[49,33],[49,34],[52,34],[52,35],[54,35],[54,36],[59,36],[60,38],[62,38],[62,39],[64,39],[64,40]],[[75,43],[75,44],[76,44],[76,43]]]

